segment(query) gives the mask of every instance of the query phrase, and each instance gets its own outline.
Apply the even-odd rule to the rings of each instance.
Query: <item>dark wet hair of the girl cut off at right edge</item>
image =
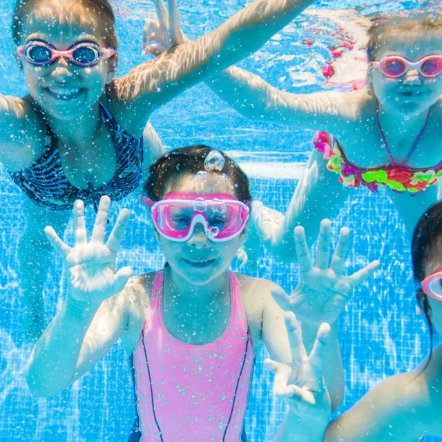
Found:
[[[417,286],[427,276],[427,264],[441,259],[442,250],[442,201],[430,206],[416,224],[412,239],[412,264],[413,278]],[[435,328],[431,320],[431,307],[428,297],[420,287],[416,289],[416,300],[425,316],[428,329],[430,330],[430,358],[424,369],[430,363],[434,343]]]

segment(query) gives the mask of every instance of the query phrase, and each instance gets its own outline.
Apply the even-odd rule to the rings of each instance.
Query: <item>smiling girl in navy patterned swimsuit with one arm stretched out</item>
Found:
[[[108,0],[17,0],[12,37],[29,94],[0,95],[0,162],[28,197],[19,242],[27,338],[44,329],[44,227],[64,229],[77,199],[97,209],[102,195],[119,200],[135,191],[162,154],[146,126],[151,113],[258,50],[309,3],[257,0],[202,39],[115,79],[118,41]]]

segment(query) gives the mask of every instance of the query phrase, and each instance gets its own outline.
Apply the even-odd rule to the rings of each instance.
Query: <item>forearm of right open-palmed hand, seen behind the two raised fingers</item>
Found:
[[[302,341],[307,354],[310,354],[313,348],[318,327],[319,324],[307,325],[302,323]],[[334,410],[340,405],[345,392],[345,372],[338,341],[338,325],[336,323],[332,325],[330,331],[330,340],[324,358],[323,376],[329,391],[330,400],[332,401],[332,410]]]

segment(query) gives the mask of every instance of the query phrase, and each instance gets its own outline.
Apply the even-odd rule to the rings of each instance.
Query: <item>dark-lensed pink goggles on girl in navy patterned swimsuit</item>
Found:
[[[68,50],[57,50],[42,40],[30,40],[17,48],[17,54],[34,66],[47,66],[59,57],[71,63],[88,68],[95,66],[102,58],[110,58],[115,54],[111,48],[102,48],[93,41],[79,41]]]

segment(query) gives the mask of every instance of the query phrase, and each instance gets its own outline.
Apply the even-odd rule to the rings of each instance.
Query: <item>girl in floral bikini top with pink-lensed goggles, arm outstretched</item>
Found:
[[[188,41],[175,23],[173,36],[162,26],[168,37],[152,46],[155,26],[146,21],[145,52],[160,53],[167,41]],[[368,32],[367,84],[358,90],[287,93],[236,67],[206,81],[244,117],[321,131],[287,213],[253,202],[253,224],[281,260],[296,258],[294,228],[305,226],[311,244],[318,234],[311,220],[336,213],[350,189],[389,188],[410,236],[436,201],[434,184],[442,175],[442,155],[434,147],[442,135],[442,17],[434,12],[380,19]],[[247,249],[254,248],[256,242],[247,242]]]

